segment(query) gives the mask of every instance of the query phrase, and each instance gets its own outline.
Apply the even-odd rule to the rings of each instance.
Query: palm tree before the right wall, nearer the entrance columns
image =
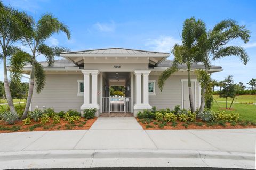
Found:
[[[188,73],[189,103],[192,112],[195,112],[195,105],[191,88],[190,72],[191,65],[197,62],[198,47],[196,44],[196,37],[202,28],[204,28],[204,25],[202,25],[201,20],[196,21],[194,17],[184,21],[181,36],[182,45],[174,45],[171,52],[174,55],[173,65],[172,67],[166,69],[158,79],[158,86],[162,91],[165,81],[170,77],[170,75],[178,71],[178,64],[185,63],[187,65],[186,71]]]

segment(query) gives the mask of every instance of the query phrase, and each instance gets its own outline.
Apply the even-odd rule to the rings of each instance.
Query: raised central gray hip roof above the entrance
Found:
[[[83,50],[83,51],[76,51],[76,52],[63,52],[62,54],[169,54],[169,53],[151,52],[147,50],[126,49],[126,48],[105,48],[105,49]]]

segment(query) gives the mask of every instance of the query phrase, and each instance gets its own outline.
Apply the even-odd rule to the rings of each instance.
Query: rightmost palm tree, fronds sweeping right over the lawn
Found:
[[[230,40],[241,38],[244,43],[247,43],[250,38],[250,31],[245,26],[238,25],[235,20],[227,19],[217,23],[213,29],[204,31],[199,36],[197,43],[201,51],[201,61],[205,66],[206,73],[209,72],[211,61],[218,60],[227,56],[237,56],[246,64],[249,61],[249,56],[239,46],[228,46]],[[202,98],[200,112],[204,110],[205,105],[205,89],[202,88]]]

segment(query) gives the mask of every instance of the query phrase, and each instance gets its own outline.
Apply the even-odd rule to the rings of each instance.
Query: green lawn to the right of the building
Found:
[[[219,108],[218,105],[221,108]],[[226,108],[226,103],[218,102],[218,105],[214,101],[212,109],[223,110]],[[228,107],[229,106],[230,103],[228,103]],[[256,105],[234,103],[232,109],[232,111],[228,110],[227,112],[237,112],[239,113],[239,118],[241,118],[242,120],[256,122]]]

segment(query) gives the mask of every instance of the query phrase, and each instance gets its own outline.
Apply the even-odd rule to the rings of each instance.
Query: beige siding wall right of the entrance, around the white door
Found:
[[[156,96],[149,96],[149,104],[156,106],[157,109],[173,109],[175,105],[181,106],[182,88],[181,79],[187,79],[187,75],[172,75],[165,83],[164,89],[161,92],[158,88],[159,75],[149,75],[149,80],[156,80],[155,92]],[[191,75],[191,79],[196,79],[196,75]],[[196,100],[198,107],[198,83],[196,83]]]

